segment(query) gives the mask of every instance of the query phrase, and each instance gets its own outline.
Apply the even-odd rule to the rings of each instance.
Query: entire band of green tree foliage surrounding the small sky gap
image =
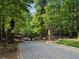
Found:
[[[28,9],[31,3],[35,4],[34,15]],[[78,4],[75,0],[0,0],[0,22],[5,19],[7,31],[14,19],[15,32],[34,36],[50,27],[56,32],[78,32]]]

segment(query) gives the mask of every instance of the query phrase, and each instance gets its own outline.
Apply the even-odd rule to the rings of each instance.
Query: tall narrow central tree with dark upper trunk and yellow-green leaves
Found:
[[[43,14],[45,14],[45,6],[47,5],[47,0],[35,0],[35,4],[36,6],[36,19],[40,22],[40,27],[41,27],[41,39],[43,38],[42,36],[44,35],[44,17],[42,16]]]

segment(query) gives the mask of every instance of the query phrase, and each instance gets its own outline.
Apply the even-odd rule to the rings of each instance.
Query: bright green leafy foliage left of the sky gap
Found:
[[[2,20],[5,20],[5,30],[10,28],[10,21],[14,19],[15,31],[24,33],[26,22],[30,16],[28,7],[33,0],[0,0],[0,26]]]

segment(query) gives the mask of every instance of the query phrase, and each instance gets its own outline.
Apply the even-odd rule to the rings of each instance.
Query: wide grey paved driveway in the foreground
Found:
[[[79,51],[46,42],[22,42],[18,59],[79,59]]]

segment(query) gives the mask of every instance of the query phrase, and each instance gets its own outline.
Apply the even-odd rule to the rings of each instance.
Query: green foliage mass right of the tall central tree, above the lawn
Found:
[[[62,30],[63,32],[77,31],[74,1],[63,0],[59,2],[58,0],[52,0],[50,2],[45,7],[46,13],[43,15],[46,19],[47,27],[51,26],[53,30]]]

